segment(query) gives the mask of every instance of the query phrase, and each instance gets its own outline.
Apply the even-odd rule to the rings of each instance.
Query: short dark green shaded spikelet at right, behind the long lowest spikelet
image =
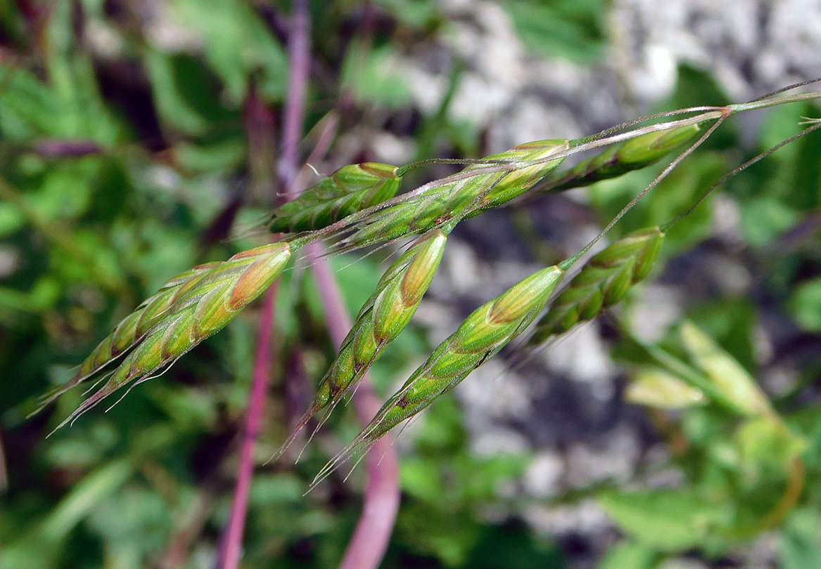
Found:
[[[529,344],[541,344],[553,335],[563,334],[621,301],[631,286],[649,275],[664,235],[659,227],[638,230],[594,255],[553,301]]]

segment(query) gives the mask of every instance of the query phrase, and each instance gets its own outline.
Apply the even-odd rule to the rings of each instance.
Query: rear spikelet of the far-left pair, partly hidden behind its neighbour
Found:
[[[200,282],[207,272],[220,264],[220,262],[209,262],[195,266],[193,269],[189,269],[169,280],[160,287],[154,296],[146,298],[140,303],[140,306],[135,308],[134,312],[131,312],[120,321],[112,333],[98,344],[97,348],[94,348],[94,352],[80,364],[71,380],[57,386],[44,396],[44,401],[39,405],[36,412],[39,412],[40,409],[52,403],[75,385],[89,380],[99,371],[102,371],[103,367],[108,366],[109,363],[117,360],[131,348],[134,348],[135,345],[140,344],[148,331],[158,321],[162,320],[174,303]]]

